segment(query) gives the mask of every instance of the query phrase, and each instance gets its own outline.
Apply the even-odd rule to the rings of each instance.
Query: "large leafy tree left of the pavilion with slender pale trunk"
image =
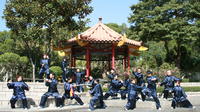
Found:
[[[92,12],[91,0],[8,0],[4,10],[6,25],[22,42],[33,68],[41,52],[81,31]]]

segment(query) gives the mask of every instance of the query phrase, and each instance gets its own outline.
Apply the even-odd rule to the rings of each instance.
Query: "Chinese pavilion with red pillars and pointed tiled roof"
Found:
[[[139,55],[137,51],[147,50],[142,42],[126,38],[102,23],[102,18],[93,27],[54,48],[60,55],[70,55],[71,67],[76,60],[86,60],[86,76],[90,75],[91,61],[108,61],[115,69],[115,60],[123,60],[124,70],[130,70],[130,55]]]

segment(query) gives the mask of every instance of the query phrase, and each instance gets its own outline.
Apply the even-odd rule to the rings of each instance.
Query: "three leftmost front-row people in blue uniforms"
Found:
[[[83,105],[83,101],[75,94],[76,85],[73,85],[72,78],[68,78],[64,82],[64,94],[60,95],[57,89],[58,81],[55,79],[55,75],[50,73],[49,78],[45,80],[45,85],[48,87],[48,91],[42,95],[39,108],[45,108],[48,97],[55,98],[56,107],[63,107],[65,99],[75,99],[80,105]],[[17,100],[22,100],[23,108],[28,109],[25,90],[29,90],[29,86],[23,81],[22,76],[17,76],[16,81],[8,81],[7,86],[9,89],[13,89],[13,96],[10,100],[11,108],[15,108]]]

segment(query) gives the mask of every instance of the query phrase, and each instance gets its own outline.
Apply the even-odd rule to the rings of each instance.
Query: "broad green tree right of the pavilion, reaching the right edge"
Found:
[[[144,42],[163,41],[166,61],[181,68],[185,45],[199,38],[199,5],[197,0],[140,0],[131,7],[131,35]]]

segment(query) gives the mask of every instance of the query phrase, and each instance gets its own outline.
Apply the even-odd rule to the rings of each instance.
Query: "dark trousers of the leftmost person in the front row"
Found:
[[[18,99],[19,98],[16,96],[13,96],[10,99],[11,108],[15,108],[15,103],[17,102]],[[22,97],[21,100],[22,100],[23,108],[28,108],[26,97]]]

